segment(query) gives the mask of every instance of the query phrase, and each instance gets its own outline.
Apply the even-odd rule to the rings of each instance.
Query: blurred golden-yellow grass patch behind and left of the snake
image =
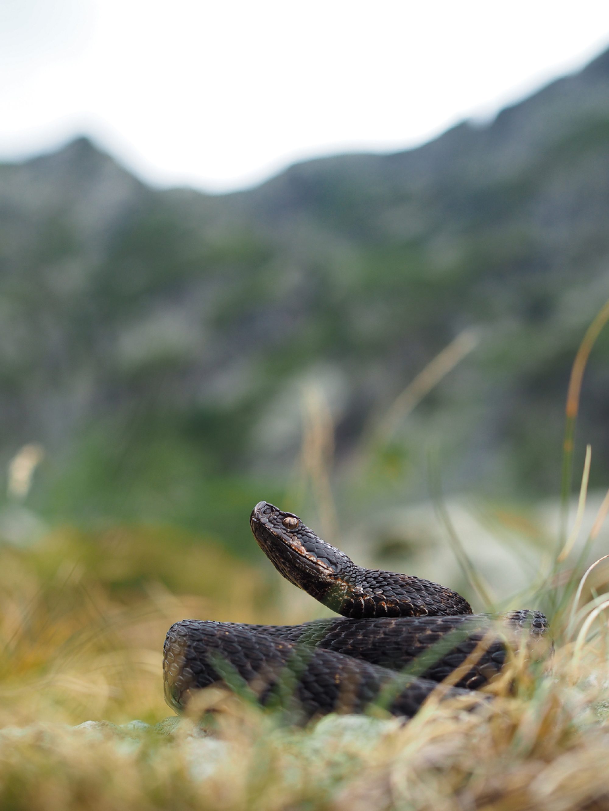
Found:
[[[255,574],[175,530],[0,547],[0,726],[161,720],[166,629],[188,616],[276,619]]]

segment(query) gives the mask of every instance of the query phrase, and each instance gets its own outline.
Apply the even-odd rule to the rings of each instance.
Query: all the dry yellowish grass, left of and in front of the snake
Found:
[[[184,616],[277,620],[259,573],[161,530],[3,547],[0,808],[609,809],[606,616],[586,622],[604,600],[585,584],[571,616],[565,571],[553,672],[515,661],[515,694],[503,680],[473,712],[430,702],[407,724],[376,710],[300,729],[211,690],[202,736],[153,726],[170,714],[162,638]],[[112,723],[74,728],[88,719]],[[113,725],[131,719],[149,726]]]

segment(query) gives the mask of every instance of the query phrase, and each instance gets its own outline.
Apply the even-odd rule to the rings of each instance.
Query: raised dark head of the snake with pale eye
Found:
[[[284,513],[266,501],[256,504],[249,523],[275,569],[326,605],[344,594],[343,577],[359,568],[344,552],[318,538],[294,513]]]

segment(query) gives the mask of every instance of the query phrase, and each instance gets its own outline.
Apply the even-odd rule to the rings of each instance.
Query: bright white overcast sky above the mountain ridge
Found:
[[[227,191],[421,144],[607,45],[607,0],[0,0],[0,156],[86,134]]]

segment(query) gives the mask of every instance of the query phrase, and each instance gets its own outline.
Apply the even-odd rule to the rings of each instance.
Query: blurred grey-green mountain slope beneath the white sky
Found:
[[[308,387],[347,461],[474,327],[477,349],[391,437],[401,492],[425,491],[430,442],[453,489],[553,491],[572,356],[609,297],[608,222],[609,52],[488,125],[231,195],[153,190],[87,139],[2,165],[0,453],[45,445],[51,512],[188,520],[197,488],[209,503],[290,469]],[[607,358],[602,337],[579,431],[593,483]]]

